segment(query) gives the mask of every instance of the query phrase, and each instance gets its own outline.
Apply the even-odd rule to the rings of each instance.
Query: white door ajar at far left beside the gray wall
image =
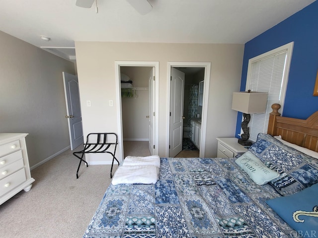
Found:
[[[76,75],[63,72],[66,118],[69,123],[71,150],[83,144],[83,129],[79,102],[79,80]]]

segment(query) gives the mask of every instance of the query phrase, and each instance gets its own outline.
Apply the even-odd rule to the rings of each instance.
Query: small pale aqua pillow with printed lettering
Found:
[[[235,163],[243,169],[256,184],[263,185],[279,177],[279,174],[265,166],[250,151],[246,151]]]

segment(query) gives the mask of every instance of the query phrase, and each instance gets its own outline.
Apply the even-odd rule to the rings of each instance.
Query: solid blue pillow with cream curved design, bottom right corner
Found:
[[[318,236],[318,183],[293,195],[267,200],[266,203],[299,235]]]

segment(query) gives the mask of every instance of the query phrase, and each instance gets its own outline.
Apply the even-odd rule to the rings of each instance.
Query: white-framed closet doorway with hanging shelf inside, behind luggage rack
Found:
[[[117,66],[122,158],[158,155],[158,126],[154,116],[158,110],[155,80],[158,67],[154,62],[117,62]]]

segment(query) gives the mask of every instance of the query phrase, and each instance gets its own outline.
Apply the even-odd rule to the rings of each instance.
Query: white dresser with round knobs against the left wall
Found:
[[[26,133],[0,133],[0,204],[17,194],[29,191],[31,178],[25,144]]]

